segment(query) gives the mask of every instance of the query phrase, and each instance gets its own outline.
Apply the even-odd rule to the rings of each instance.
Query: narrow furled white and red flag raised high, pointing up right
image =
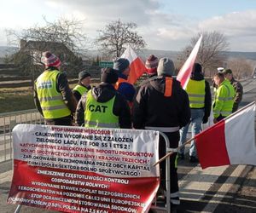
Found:
[[[181,83],[183,89],[186,89],[187,84],[189,82],[189,78],[190,78],[194,63],[195,63],[196,55],[200,48],[201,39],[202,39],[202,35],[198,39],[197,43],[195,43],[195,47],[192,50],[192,52],[190,53],[189,58],[183,64],[180,71],[177,73],[177,80]]]

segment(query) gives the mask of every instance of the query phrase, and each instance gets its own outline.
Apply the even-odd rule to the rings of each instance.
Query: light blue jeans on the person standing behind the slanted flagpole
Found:
[[[192,138],[200,133],[201,131],[201,124],[202,124],[202,118],[204,117],[205,110],[204,109],[191,109],[191,119],[190,123],[191,131],[192,131]],[[179,130],[180,134],[180,141],[179,145],[182,145],[185,141],[187,141],[187,133],[189,130],[189,124],[184,126],[181,130]],[[179,151],[179,153],[184,153],[185,147],[182,147]],[[190,148],[189,148],[189,156],[196,157],[196,147],[195,147],[195,141],[191,141]]]

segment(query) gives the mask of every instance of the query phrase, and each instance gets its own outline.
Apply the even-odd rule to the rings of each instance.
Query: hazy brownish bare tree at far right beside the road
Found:
[[[228,61],[227,67],[232,70],[233,76],[237,79],[252,76],[253,63],[246,59],[231,59]]]

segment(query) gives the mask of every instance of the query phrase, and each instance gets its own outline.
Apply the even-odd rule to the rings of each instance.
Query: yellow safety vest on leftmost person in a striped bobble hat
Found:
[[[71,114],[61,93],[56,89],[56,78],[59,73],[57,70],[46,70],[35,83],[44,118],[63,118]]]

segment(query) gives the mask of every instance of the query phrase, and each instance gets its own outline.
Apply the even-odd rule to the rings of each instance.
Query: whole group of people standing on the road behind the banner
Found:
[[[34,86],[34,101],[45,124],[78,125],[92,128],[122,128],[158,130],[165,133],[172,148],[187,140],[189,125],[192,137],[201,131],[213,112],[213,123],[236,112],[242,98],[242,86],[230,69],[218,69],[213,77],[214,98],[210,84],[204,78],[202,67],[195,63],[183,89],[173,78],[172,60],[160,60],[149,55],[145,62],[148,79],[135,88],[128,82],[129,60],[113,60],[113,67],[104,68],[101,83],[90,86],[90,73],[79,72],[79,83],[72,90],[67,76],[60,71],[61,60],[50,52],[42,57],[44,72]],[[221,68],[221,67],[219,67]],[[166,144],[160,136],[160,158],[166,154]],[[171,204],[180,204],[177,183],[177,159],[184,160],[184,147],[172,154]],[[189,147],[189,161],[197,163],[195,142]],[[165,199],[166,164],[160,163],[159,199]]]

